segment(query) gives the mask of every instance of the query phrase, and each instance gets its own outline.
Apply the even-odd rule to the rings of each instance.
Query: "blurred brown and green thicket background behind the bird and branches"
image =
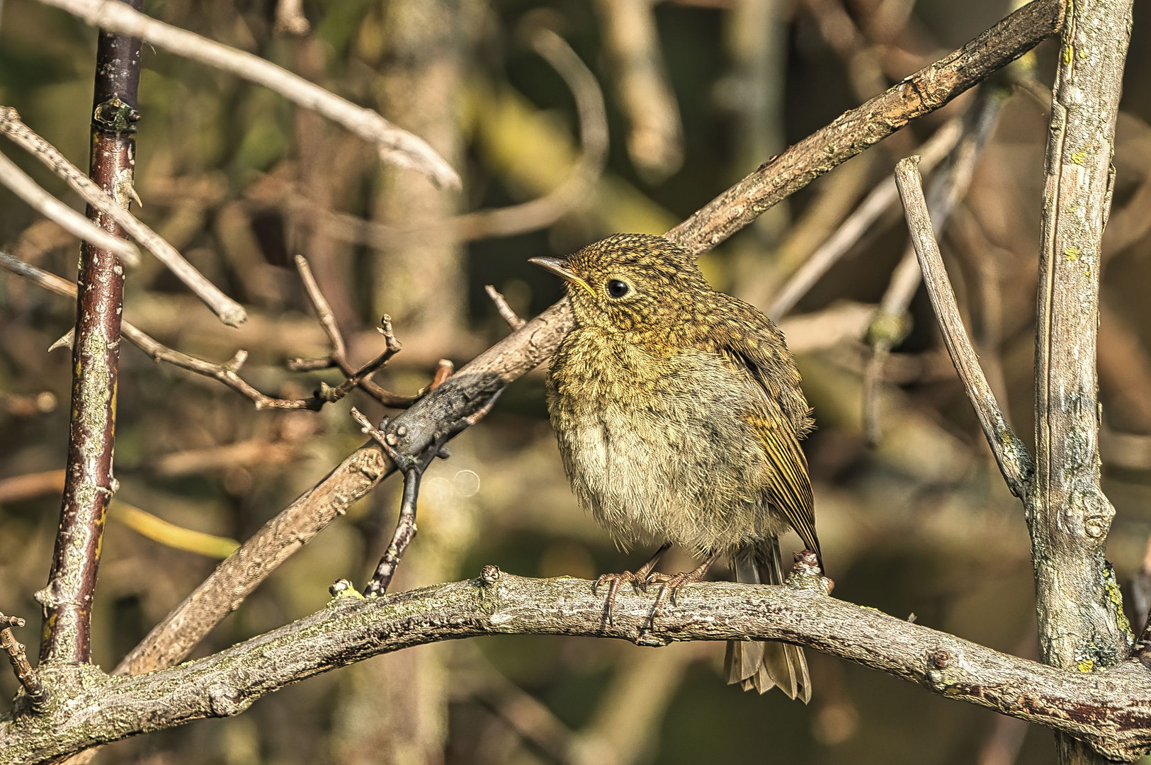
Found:
[[[328,352],[292,268],[292,255],[303,253],[353,362],[379,352],[374,327],[381,313],[391,314],[404,350],[376,380],[413,392],[440,358],[463,364],[506,334],[486,284],[525,318],[559,296],[528,257],[564,254],[613,231],[665,231],[788,143],[1008,9],[1004,0],[148,2],[146,13],[160,20],[378,108],[432,141],[465,188],[437,191],[414,173],[381,166],[359,139],[279,95],[145,45],[138,214],[251,318],[238,330],[222,327],[154,261],[130,274],[125,318],[213,360],[246,349],[253,384],[270,395],[306,395],[338,376],[285,367],[289,358]],[[1104,483],[1119,511],[1110,557],[1138,626],[1151,566],[1151,29],[1136,16],[1105,240],[1099,367]],[[567,40],[603,89],[605,168],[577,188],[555,220],[519,227],[529,230],[445,223],[546,194],[572,176],[585,151],[580,133],[594,125],[580,129],[570,74],[557,74],[525,41],[525,30],[540,25]],[[0,102],[82,167],[94,39],[83,23],[31,0],[2,7]],[[1006,91],[942,238],[982,359],[1024,434],[1032,427],[1053,55],[1053,44],[1041,47]],[[704,258],[707,274],[768,308],[894,161],[975,98],[960,98],[769,211]],[[40,166],[9,154],[75,201]],[[3,247],[74,278],[76,243],[6,191],[0,200]],[[829,574],[838,597],[1034,656],[1021,508],[990,459],[930,306],[913,289],[894,324],[872,326],[905,245],[902,216],[892,207],[783,321],[818,422],[806,447]],[[68,353],[47,347],[73,314],[68,300],[0,278],[0,602],[8,613],[35,617],[32,592],[51,559],[70,370]],[[864,376],[875,343],[892,352],[871,365],[871,435],[878,436],[871,444]],[[228,540],[245,538],[363,442],[346,404],[257,412],[215,382],[158,366],[135,347],[121,360],[121,488],[93,624],[94,659],[105,667],[211,571]],[[372,415],[383,413],[360,393],[353,398]],[[638,565],[647,551],[612,546],[576,506],[557,457],[534,373],[456,439],[450,460],[433,466],[421,534],[398,587],[472,576],[487,563],[540,576]],[[197,656],[313,611],[337,577],[364,581],[390,535],[397,488],[376,490],[304,548]],[[148,538],[134,508],[222,538],[180,529]],[[197,551],[163,540],[198,543]],[[680,554],[665,569],[688,565]],[[711,644],[650,650],[557,637],[422,647],[294,686],[235,719],[121,742],[100,758],[991,765],[1043,763],[1053,753],[1045,730],[818,655],[809,706],[780,694],[741,694],[721,681],[722,653]],[[15,691],[8,673],[0,673],[0,691]]]

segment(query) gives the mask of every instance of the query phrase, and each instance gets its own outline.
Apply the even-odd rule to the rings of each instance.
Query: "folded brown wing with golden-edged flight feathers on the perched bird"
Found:
[[[738,322],[712,326],[711,337],[716,350],[746,369],[767,395],[746,419],[755,428],[771,466],[769,500],[787,517],[803,544],[820,556],[822,565],[811,480],[799,445],[799,435],[810,427],[799,370],[784,345],[783,332],[771,320],[746,303],[730,299],[729,315],[737,316]]]

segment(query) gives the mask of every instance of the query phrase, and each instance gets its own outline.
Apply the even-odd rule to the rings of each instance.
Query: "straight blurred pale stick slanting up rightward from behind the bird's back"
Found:
[[[932,133],[923,146],[920,147],[920,166],[924,171],[933,168],[951,150],[955,147],[963,136],[963,120],[955,117],[948,120],[942,128]],[[859,207],[836,229],[836,232],[828,237],[828,240],[820,245],[820,248],[803,261],[803,265],[795,269],[791,278],[780,288],[779,294],[768,308],[768,315],[775,320],[791,313],[805,294],[807,294],[815,283],[826,274],[836,262],[839,261],[852,246],[871,228],[871,225],[892,205],[899,192],[895,190],[895,182],[886,177],[871,190]]]

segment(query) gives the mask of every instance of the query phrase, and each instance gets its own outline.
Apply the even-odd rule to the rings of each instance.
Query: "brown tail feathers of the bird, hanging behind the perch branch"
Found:
[[[749,584],[783,584],[784,572],[779,560],[779,540],[739,552],[733,568],[735,581]],[[727,641],[724,661],[727,683],[739,683],[744,690],[753,688],[761,694],[776,686],[788,698],[805,704],[811,701],[811,676],[807,659],[798,645],[765,641]]]

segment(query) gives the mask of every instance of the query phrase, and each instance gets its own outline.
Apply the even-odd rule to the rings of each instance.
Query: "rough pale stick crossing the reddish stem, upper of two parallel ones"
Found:
[[[16,145],[28,150],[32,156],[63,178],[76,193],[84,198],[84,201],[119,223],[129,236],[144,245],[148,252],[155,255],[157,260],[175,274],[176,278],[186,284],[212,309],[212,313],[220,316],[223,323],[237,327],[247,319],[243,306],[221,292],[219,288],[205,278],[204,274],[184,260],[184,257],[163,237],[128,212],[128,200],[136,196],[130,183],[117,184],[109,196],[100,186],[92,183],[79,168],[69,162],[55,146],[25,125],[16,109],[7,106],[0,106],[0,132],[7,135]]]

